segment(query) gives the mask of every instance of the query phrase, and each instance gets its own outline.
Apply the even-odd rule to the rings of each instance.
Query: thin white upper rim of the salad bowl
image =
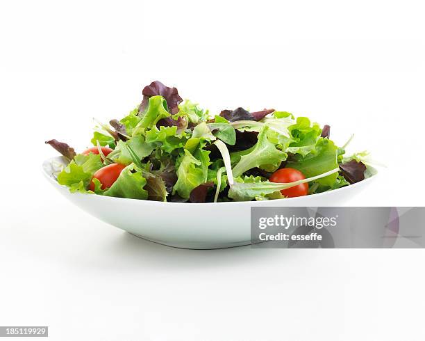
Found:
[[[68,187],[66,187],[65,185],[59,184],[58,181],[56,179],[54,179],[51,174],[49,175],[49,173],[47,173],[46,170],[46,165],[47,164],[51,164],[52,161],[59,161],[62,160],[64,161],[63,157],[49,157],[48,159],[45,159],[42,162],[42,173],[44,174],[44,176],[47,178],[48,181],[50,181],[54,186],[63,188],[63,189],[68,189]],[[274,200],[267,200],[267,203],[270,203],[270,206],[273,206],[272,203],[282,203],[283,200],[285,200],[285,203],[288,203],[288,200],[291,204],[297,204],[297,202],[301,201],[301,200],[306,200],[306,198],[318,198],[319,196],[328,196],[328,195],[332,195],[332,193],[338,193],[340,191],[347,191],[347,189],[353,189],[355,187],[359,187],[359,186],[363,186],[365,184],[365,182],[371,182],[371,180],[376,179],[376,175],[378,175],[378,173],[381,173],[381,171],[378,171],[374,166],[370,166],[367,165],[367,167],[369,169],[371,169],[374,174],[370,177],[367,177],[365,180],[362,180],[360,182],[356,182],[355,184],[350,184],[349,186],[345,186],[345,187],[341,187],[339,189],[333,189],[332,191],[325,191],[322,193],[315,193],[315,194],[309,194],[308,196],[299,196],[299,197],[295,197],[295,198],[282,198],[282,199],[274,199]],[[70,193],[70,192],[69,192]],[[74,196],[87,196],[90,195],[92,196],[91,193],[70,193]],[[131,198],[117,198],[117,197],[113,197],[113,196],[99,196],[98,194],[94,194],[94,196],[96,198],[99,198],[99,200],[131,200],[132,202],[139,202],[139,203],[149,203],[151,205],[188,205],[190,204],[191,206],[194,205],[255,205],[256,203],[264,203],[264,201],[228,201],[228,202],[219,202],[219,203],[173,203],[173,202],[169,202],[169,201],[154,201],[154,200],[140,200],[140,199],[131,199]],[[123,201],[124,202],[124,201]],[[293,205],[293,206],[295,206]]]

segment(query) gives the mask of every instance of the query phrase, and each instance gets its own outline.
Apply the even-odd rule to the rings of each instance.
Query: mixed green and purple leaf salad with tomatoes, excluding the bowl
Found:
[[[210,115],[153,81],[121,120],[97,122],[92,148],[77,154],[47,141],[67,159],[55,174],[72,192],[185,203],[273,200],[349,186],[368,176],[366,152],[306,117],[242,107]]]

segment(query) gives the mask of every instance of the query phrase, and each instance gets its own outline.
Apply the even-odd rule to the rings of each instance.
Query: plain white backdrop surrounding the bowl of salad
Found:
[[[0,325],[48,325],[51,340],[424,340],[423,250],[167,248],[81,212],[40,171],[56,155],[44,141],[81,151],[92,117],[124,116],[158,79],[213,113],[267,106],[330,124],[340,145],[356,133],[351,148],[387,168],[349,205],[424,205],[423,13],[3,2]]]

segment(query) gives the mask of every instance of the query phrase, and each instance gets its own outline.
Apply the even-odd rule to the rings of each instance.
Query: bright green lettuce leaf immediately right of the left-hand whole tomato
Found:
[[[144,189],[146,184],[147,180],[143,177],[142,171],[131,164],[122,170],[117,181],[103,195],[146,200],[148,198],[148,191]]]

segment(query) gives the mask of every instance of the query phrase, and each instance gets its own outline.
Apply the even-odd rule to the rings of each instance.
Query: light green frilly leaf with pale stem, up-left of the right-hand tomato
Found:
[[[274,143],[267,138],[269,127],[265,125],[258,134],[258,142],[253,146],[249,154],[240,157],[240,161],[233,168],[233,176],[238,177],[247,170],[261,165],[278,166],[281,161],[285,160],[287,154],[278,150]]]

